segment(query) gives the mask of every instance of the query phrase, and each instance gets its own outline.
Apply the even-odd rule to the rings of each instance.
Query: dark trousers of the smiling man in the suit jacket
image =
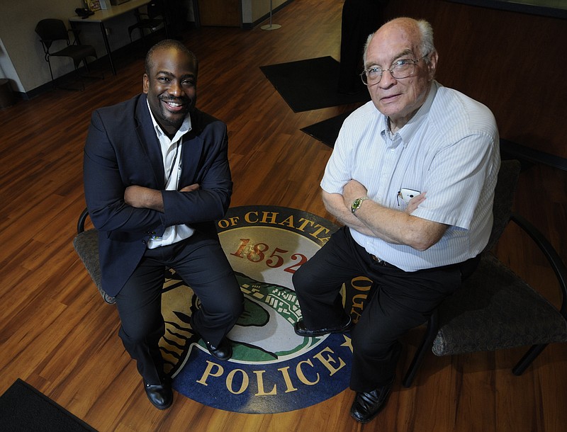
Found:
[[[149,384],[159,384],[164,370],[159,339],[164,335],[162,287],[173,268],[201,300],[193,326],[218,346],[244,309],[244,297],[220,243],[196,232],[169,246],[147,249],[140,264],[116,295],[118,334],[137,370]]]

